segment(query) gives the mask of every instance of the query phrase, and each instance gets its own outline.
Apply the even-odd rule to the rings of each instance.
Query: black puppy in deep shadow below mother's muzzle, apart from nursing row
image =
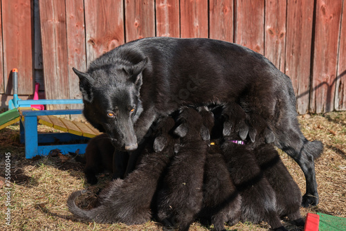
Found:
[[[95,175],[104,170],[113,173],[112,163],[115,150],[106,133],[89,140],[84,154],[86,161],[84,174],[89,184],[97,183],[98,178]]]

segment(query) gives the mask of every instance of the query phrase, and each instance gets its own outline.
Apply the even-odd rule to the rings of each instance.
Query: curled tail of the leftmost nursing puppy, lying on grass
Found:
[[[67,200],[67,206],[72,214],[78,217],[78,219],[82,219],[83,221],[95,221],[96,223],[111,223],[107,221],[107,216],[103,216],[103,206],[95,207],[91,210],[82,210],[75,204],[75,199],[82,195],[85,190],[80,190],[73,192],[69,199]]]

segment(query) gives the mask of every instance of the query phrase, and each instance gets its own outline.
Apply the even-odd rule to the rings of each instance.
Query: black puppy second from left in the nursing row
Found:
[[[189,230],[190,224],[201,210],[203,201],[203,166],[210,139],[201,115],[192,108],[183,108],[179,126],[179,147],[157,193],[157,218],[164,225]]]

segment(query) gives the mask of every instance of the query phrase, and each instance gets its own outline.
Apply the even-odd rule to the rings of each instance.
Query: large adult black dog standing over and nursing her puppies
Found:
[[[118,149],[131,151],[159,115],[182,105],[237,102],[260,114],[275,145],[300,165],[307,181],[302,205],[318,203],[314,159],[322,143],[300,131],[291,80],[264,56],[213,39],[154,37],[105,53],[80,77],[84,115]]]

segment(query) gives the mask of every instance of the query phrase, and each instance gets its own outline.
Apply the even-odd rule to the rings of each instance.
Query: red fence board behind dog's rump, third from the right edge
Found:
[[[309,111],[313,1],[287,1],[285,74],[292,80],[298,113]]]

